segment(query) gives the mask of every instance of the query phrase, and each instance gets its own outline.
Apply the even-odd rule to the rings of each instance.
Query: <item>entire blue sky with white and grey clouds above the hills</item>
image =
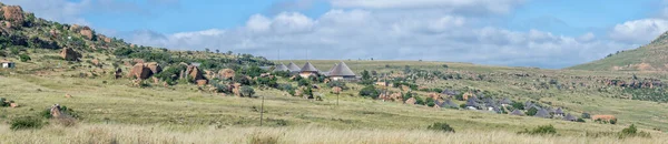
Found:
[[[668,31],[664,0],[0,0],[131,43],[561,69]],[[281,51],[281,53],[278,53]]]

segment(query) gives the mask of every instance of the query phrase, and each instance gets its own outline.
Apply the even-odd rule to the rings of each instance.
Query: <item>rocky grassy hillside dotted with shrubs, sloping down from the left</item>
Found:
[[[134,45],[2,11],[0,56],[16,68],[0,69],[0,143],[668,141],[666,72],[347,60],[362,80],[334,82],[262,69],[275,63],[262,56]],[[310,62],[326,72],[340,61]],[[544,125],[556,134],[524,133]],[[651,136],[620,133],[630,125]]]

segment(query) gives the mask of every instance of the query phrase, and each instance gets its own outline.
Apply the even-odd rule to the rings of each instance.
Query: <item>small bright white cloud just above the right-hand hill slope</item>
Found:
[[[668,20],[642,19],[615,25],[610,38],[627,43],[645,44],[666,31],[668,31]]]

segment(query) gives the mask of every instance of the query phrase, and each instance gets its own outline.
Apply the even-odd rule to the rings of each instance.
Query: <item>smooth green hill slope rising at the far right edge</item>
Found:
[[[651,43],[635,50],[621,51],[605,59],[568,68],[598,71],[668,71],[668,32]]]

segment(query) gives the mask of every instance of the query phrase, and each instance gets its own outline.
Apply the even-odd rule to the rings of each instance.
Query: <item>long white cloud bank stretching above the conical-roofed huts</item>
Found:
[[[387,16],[370,10],[332,10],[318,19],[294,12],[271,18],[256,14],[237,29],[158,35],[144,32],[139,41],[129,40],[176,49],[232,50],[274,59],[276,49],[283,49],[282,59],[306,59],[308,50],[308,59],[423,59],[542,68],[570,66],[630,47],[596,40],[592,33],[571,38],[540,30],[470,27],[470,19],[474,18],[453,14],[402,19]]]

